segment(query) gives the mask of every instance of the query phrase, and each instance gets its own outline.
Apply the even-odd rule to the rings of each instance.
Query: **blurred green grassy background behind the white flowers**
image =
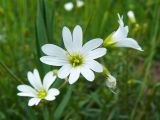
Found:
[[[160,1],[84,0],[84,6],[66,11],[64,0],[0,0],[0,120],[160,120]],[[127,17],[134,11],[136,23]],[[18,97],[17,85],[28,84],[26,74],[38,68],[41,77],[54,69],[39,61],[45,43],[63,46],[63,26],[83,28],[84,42],[105,39],[118,28],[117,13],[129,25],[129,36],[144,52],[108,49],[99,59],[117,78],[118,94],[96,74],[94,82],[82,78],[66,84],[55,101],[28,107]],[[54,86],[63,84],[57,80]]]

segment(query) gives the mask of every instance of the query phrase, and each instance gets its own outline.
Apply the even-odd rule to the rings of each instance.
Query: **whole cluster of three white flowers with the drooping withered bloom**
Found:
[[[41,82],[38,70],[28,72],[28,81],[32,86],[19,85],[19,96],[31,97],[28,105],[38,105],[41,100],[52,101],[59,95],[59,90],[50,88],[56,78],[65,79],[69,84],[75,83],[82,75],[86,80],[95,79],[94,72],[104,73],[106,75],[106,86],[111,89],[116,88],[116,78],[113,77],[108,69],[95,59],[104,56],[107,47],[130,47],[142,51],[142,48],[133,38],[128,38],[128,26],[124,26],[123,17],[119,17],[119,28],[110,34],[104,41],[101,38],[95,38],[83,44],[82,28],[77,25],[73,32],[63,27],[62,37],[65,49],[54,45],[45,44],[42,51],[45,56],[40,58],[44,64],[57,66],[57,74],[53,71],[48,72],[43,82]],[[50,89],[49,89],[50,88]]]

